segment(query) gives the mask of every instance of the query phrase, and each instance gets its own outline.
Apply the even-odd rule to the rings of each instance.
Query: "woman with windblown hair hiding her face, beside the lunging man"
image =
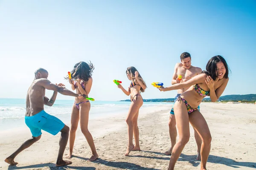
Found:
[[[90,93],[93,78],[92,72],[94,70],[93,64],[90,62],[87,64],[86,62],[77,63],[73,70],[70,72],[72,79],[69,77],[65,77],[65,79],[69,79],[72,90],[76,90],[77,94],[85,94],[88,96]],[[72,108],[71,113],[71,127],[70,127],[70,153],[67,158],[71,158],[73,155],[73,147],[76,138],[76,129],[78,127],[78,122],[80,120],[80,128],[81,132],[84,134],[90,149],[92,150],[92,156],[89,161],[94,161],[98,158],[98,154],[96,152],[96,148],[93,142],[93,136],[90,134],[88,130],[88,119],[89,119],[89,111],[90,111],[90,102],[87,99],[75,99],[75,103]]]

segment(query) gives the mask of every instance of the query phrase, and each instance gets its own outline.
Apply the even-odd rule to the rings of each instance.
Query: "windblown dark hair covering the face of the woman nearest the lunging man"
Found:
[[[90,62],[87,64],[86,62],[79,62],[76,63],[73,70],[70,71],[71,79],[72,80],[83,80],[84,82],[87,82],[89,77],[92,76],[92,72],[94,70],[93,64]],[[64,77],[65,79],[69,80],[69,76]]]

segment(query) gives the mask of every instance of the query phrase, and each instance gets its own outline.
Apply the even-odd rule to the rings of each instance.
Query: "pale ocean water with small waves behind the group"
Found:
[[[127,113],[131,102],[119,101],[91,101],[89,119],[108,118],[120,113]],[[70,115],[74,100],[56,100],[52,107],[46,106],[44,110],[61,119],[64,123],[70,122]],[[142,107],[166,105],[165,102],[144,102]],[[24,115],[26,99],[0,98],[0,131],[12,128],[26,127]]]

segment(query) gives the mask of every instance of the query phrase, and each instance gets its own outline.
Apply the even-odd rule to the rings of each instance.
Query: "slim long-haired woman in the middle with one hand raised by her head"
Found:
[[[126,91],[121,84],[118,85],[118,88],[120,88],[127,96],[131,95],[131,105],[126,118],[126,123],[128,125],[128,146],[125,156],[128,156],[131,150],[140,150],[138,116],[139,109],[143,105],[143,98],[140,95],[140,92],[144,92],[147,86],[135,67],[128,67],[126,75],[128,79],[131,80],[128,91]],[[135,146],[133,144],[133,134]]]

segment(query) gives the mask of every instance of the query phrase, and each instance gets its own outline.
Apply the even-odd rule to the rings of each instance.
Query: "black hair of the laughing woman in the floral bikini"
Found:
[[[212,57],[207,62],[206,71],[204,70],[204,71],[202,71],[202,73],[207,74],[208,76],[211,76],[214,81],[217,80],[218,71],[217,71],[217,66],[216,65],[217,65],[217,62],[220,62],[220,61],[223,62],[224,66],[226,68],[226,73],[224,75],[224,78],[227,79],[229,68],[228,68],[226,60],[223,57],[219,56],[219,55]]]

